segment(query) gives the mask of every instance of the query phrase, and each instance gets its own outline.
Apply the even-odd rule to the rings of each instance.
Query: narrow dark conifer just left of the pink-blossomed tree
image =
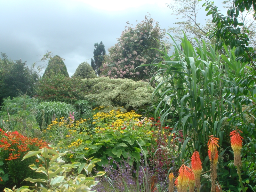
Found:
[[[102,62],[104,60],[104,55],[106,55],[105,51],[105,45],[103,45],[102,41],[100,44],[95,43],[94,44],[94,51],[93,51],[93,58],[94,60],[91,60],[91,66],[95,70],[97,76],[99,76],[100,67],[102,66]]]

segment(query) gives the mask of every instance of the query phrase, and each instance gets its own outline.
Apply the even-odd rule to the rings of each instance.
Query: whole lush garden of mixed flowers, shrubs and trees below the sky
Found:
[[[2,53],[0,190],[256,191],[256,54],[238,20],[255,1],[203,6],[208,41],[145,17],[72,77],[51,52],[38,71]]]

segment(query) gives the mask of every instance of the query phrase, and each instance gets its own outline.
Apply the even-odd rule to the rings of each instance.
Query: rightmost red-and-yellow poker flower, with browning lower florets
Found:
[[[231,141],[231,148],[234,151],[234,165],[235,166],[240,166],[242,165],[241,161],[241,150],[242,150],[242,139],[243,137],[240,136],[239,132],[243,133],[239,129],[234,130],[230,132],[230,141]]]

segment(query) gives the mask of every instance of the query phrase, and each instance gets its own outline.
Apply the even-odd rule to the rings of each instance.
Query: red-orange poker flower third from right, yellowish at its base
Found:
[[[202,162],[198,151],[195,151],[191,157],[192,171],[195,174],[196,188],[201,187],[200,177],[202,172]]]

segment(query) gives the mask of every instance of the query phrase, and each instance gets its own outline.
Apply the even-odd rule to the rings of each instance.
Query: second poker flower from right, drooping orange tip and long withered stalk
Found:
[[[216,178],[217,178],[217,163],[218,163],[218,148],[220,147],[218,145],[219,138],[213,137],[213,135],[210,136],[210,139],[208,141],[208,156],[211,162],[211,178],[212,178],[212,189],[211,191],[215,192],[216,188]]]

